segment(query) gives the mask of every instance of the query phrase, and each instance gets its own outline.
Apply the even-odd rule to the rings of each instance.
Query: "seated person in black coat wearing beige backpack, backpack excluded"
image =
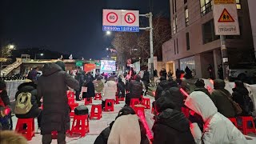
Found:
[[[18,86],[18,92],[15,94],[15,100],[17,101],[18,94],[21,93],[30,93],[31,94],[31,104],[32,107],[30,111],[26,114],[15,114],[17,118],[38,118],[38,133],[41,129],[41,119],[42,119],[42,110],[39,109],[41,106],[41,102],[38,103],[37,101],[37,86],[34,82],[30,81],[29,79],[26,82],[22,83]]]

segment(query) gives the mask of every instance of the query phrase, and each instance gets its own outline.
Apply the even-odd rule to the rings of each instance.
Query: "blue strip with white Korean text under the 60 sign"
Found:
[[[139,32],[138,26],[102,26],[103,31]]]

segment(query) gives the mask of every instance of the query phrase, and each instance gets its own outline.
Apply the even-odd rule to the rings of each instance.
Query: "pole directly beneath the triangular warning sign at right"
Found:
[[[226,36],[220,35],[221,39],[221,51],[222,51],[222,68],[223,68],[223,78],[228,80],[229,76],[229,59],[226,49]]]

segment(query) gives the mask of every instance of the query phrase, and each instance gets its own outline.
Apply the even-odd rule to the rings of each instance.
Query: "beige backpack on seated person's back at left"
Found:
[[[27,114],[31,110],[31,96],[31,93],[22,92],[18,94],[14,109],[15,114]]]

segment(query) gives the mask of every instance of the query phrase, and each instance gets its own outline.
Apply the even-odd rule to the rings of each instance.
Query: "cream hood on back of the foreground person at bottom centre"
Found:
[[[140,144],[141,130],[136,114],[122,115],[115,120],[108,144]]]

